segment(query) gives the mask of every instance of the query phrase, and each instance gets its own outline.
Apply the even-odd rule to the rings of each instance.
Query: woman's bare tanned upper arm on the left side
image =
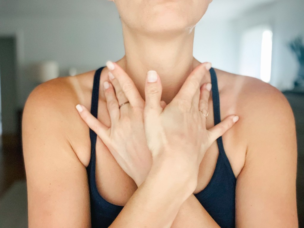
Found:
[[[33,90],[22,117],[29,227],[90,227],[86,168],[67,136],[64,106],[48,89]]]

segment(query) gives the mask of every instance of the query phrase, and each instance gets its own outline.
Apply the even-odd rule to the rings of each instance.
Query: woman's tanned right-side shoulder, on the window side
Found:
[[[294,127],[294,116],[285,95],[273,85],[258,78],[218,70],[223,100],[232,100],[240,116],[240,131],[247,138],[267,136],[278,129]]]

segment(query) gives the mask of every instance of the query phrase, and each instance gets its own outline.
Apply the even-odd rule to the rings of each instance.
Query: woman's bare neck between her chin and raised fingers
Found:
[[[191,33],[162,37],[130,33],[124,29],[125,56],[117,64],[134,81],[145,98],[147,72],[156,71],[162,82],[162,100],[167,104],[178,93],[186,78],[200,64],[193,57],[194,29]]]

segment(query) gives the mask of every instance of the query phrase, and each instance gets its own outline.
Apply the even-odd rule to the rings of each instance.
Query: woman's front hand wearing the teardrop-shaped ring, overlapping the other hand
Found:
[[[201,81],[210,67],[210,63],[199,64],[165,108],[160,105],[162,85],[155,71],[148,73],[145,84],[144,126],[153,161],[166,160],[170,168],[186,172],[196,184],[206,150],[238,120],[231,115],[206,129],[206,117],[199,109],[208,109],[211,84],[201,86]]]

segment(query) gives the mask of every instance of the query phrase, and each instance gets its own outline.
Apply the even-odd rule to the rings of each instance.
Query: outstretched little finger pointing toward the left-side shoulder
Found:
[[[84,105],[78,104],[76,105],[76,109],[89,128],[91,128],[99,136],[99,138],[102,139],[102,141],[108,141],[109,136],[107,132],[109,128],[96,119],[95,116],[93,116]]]

